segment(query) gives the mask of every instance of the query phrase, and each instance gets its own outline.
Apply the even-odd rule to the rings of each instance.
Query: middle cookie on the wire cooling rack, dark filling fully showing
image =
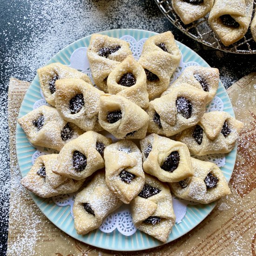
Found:
[[[209,24],[225,46],[240,40],[247,32],[253,0],[215,0]]]

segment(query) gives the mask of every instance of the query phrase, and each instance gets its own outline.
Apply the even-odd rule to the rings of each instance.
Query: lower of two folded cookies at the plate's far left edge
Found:
[[[77,191],[85,180],[74,181],[53,173],[57,154],[39,156],[31,170],[20,181],[21,185],[35,195],[51,197]]]

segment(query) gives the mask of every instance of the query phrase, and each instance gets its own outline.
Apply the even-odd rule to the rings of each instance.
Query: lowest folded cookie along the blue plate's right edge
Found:
[[[192,157],[191,162],[194,169],[193,177],[169,183],[171,191],[177,197],[193,202],[210,203],[230,194],[228,183],[216,164]]]

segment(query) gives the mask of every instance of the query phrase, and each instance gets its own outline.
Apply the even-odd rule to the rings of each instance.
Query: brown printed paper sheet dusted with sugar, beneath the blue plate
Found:
[[[47,220],[27,191],[20,187],[15,123],[28,85],[11,79],[9,86],[12,191],[8,256],[256,256],[256,73],[243,77],[228,89],[236,118],[245,124],[229,184],[232,194],[222,198],[211,214],[186,235],[155,249],[129,253],[94,248],[67,236]]]

